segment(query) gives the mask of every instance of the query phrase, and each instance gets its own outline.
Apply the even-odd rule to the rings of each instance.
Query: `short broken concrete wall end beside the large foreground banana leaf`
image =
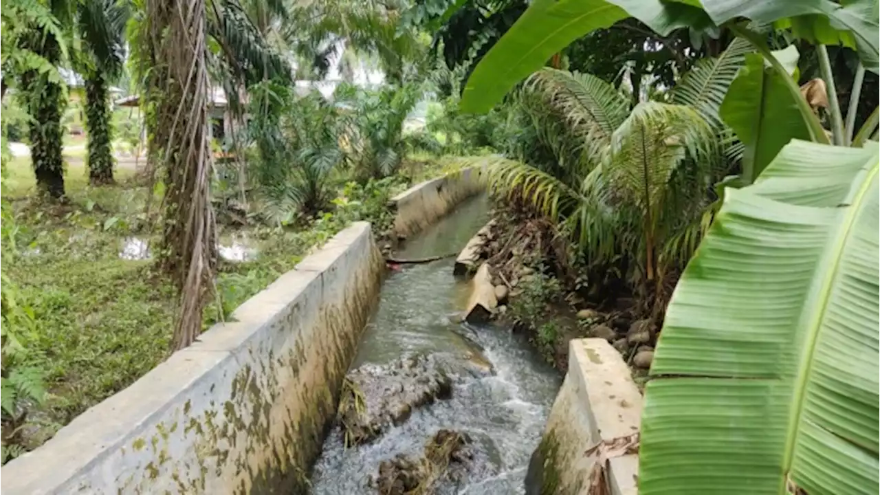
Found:
[[[568,373],[529,464],[526,494],[587,495],[593,462],[584,453],[638,432],[641,417],[642,395],[620,353],[605,339],[572,340]],[[635,454],[609,461],[612,495],[638,492],[638,462]]]

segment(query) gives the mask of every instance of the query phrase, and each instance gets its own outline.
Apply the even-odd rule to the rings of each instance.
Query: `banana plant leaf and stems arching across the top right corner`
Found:
[[[797,37],[818,43],[820,55],[826,44],[856,48],[866,69],[880,70],[880,20],[870,6],[870,0],[847,0],[842,4],[831,0],[538,0],[477,65],[463,92],[461,106],[466,111],[488,111],[510,88],[569,43],[628,17],[638,18],[660,35],[680,27],[703,33],[730,28],[752,41],[781,74],[785,73],[783,63],[751,26],[790,29]],[[746,26],[746,21],[751,23]],[[781,82],[808,122],[810,138],[828,143],[818,118],[812,115],[809,105],[797,100],[799,88],[788,79],[782,78]],[[830,91],[832,88],[829,84]],[[836,96],[829,100],[837,101]],[[834,121],[839,120],[840,115],[836,115]],[[836,142],[841,139],[835,137]]]

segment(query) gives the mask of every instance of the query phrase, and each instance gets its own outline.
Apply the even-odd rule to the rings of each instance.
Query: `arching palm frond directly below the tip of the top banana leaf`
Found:
[[[629,100],[614,86],[590,74],[542,69],[532,74],[524,91],[539,94],[568,124],[588,159],[601,161],[614,129],[627,118]]]

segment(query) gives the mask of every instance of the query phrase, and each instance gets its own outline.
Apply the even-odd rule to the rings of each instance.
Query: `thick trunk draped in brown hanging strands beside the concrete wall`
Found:
[[[165,165],[164,230],[159,264],[181,295],[174,349],[202,331],[202,309],[216,267],[216,233],[209,177],[209,85],[205,0],[149,0],[150,40],[167,78],[158,90],[155,144]]]

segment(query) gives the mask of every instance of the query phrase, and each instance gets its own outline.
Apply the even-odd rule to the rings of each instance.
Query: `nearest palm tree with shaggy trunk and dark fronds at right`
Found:
[[[237,0],[151,0],[138,5],[129,32],[137,45],[137,77],[146,89],[151,159],[165,171],[159,262],[181,294],[173,338],[174,348],[180,349],[202,330],[216,263],[209,81],[221,82],[232,104],[247,85],[290,81],[291,72]]]

